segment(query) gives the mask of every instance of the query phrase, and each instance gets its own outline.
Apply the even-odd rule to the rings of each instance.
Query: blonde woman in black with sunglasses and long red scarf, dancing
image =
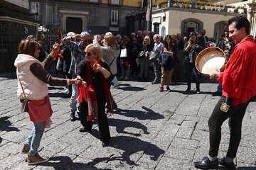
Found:
[[[102,147],[106,147],[111,137],[105,105],[107,103],[107,112],[113,113],[110,82],[114,76],[110,67],[101,60],[102,50],[99,45],[88,45],[85,48],[85,58],[80,62],[77,72],[78,79],[82,79],[78,97],[82,124],[80,132],[91,130],[92,120],[98,120]]]

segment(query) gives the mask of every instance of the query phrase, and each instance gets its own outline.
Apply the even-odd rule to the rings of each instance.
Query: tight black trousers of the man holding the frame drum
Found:
[[[241,140],[242,119],[245,115],[249,101],[246,103],[240,103],[238,106],[233,106],[232,98],[228,98],[228,105],[230,108],[226,113],[220,110],[220,106],[223,102],[225,103],[225,97],[221,96],[208,120],[210,129],[209,155],[211,157],[218,156],[218,149],[221,140],[221,125],[223,125],[225,120],[230,118],[230,142],[226,156],[235,158]]]

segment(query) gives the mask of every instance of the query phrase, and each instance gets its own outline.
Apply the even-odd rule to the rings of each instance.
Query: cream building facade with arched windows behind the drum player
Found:
[[[181,33],[181,36],[188,37],[192,31],[200,33],[202,29],[205,29],[210,40],[218,41],[229,18],[246,16],[246,13],[228,12],[224,10],[224,7],[222,7],[223,10],[203,7],[191,8],[191,5],[173,4],[171,6],[169,4],[169,7],[158,8],[152,13],[152,31],[162,36]]]

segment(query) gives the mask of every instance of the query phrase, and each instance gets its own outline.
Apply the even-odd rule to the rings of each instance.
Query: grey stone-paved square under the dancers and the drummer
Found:
[[[15,75],[0,76],[0,169],[195,169],[193,162],[208,153],[208,118],[218,96],[217,84],[201,84],[201,94],[186,94],[186,84],[172,84],[159,93],[150,82],[120,81],[112,89],[118,109],[109,116],[112,142],[102,147],[97,123],[80,133],[80,122],[69,120],[69,98],[63,87],[50,86],[53,125],[41,141],[40,154],[50,161],[28,166],[20,154],[32,123],[19,113]],[[195,88],[195,84],[192,86]],[[256,169],[256,102],[247,108],[242,140],[235,163],[238,169]],[[228,148],[228,123],[223,124],[219,157]],[[223,167],[220,167],[223,169]]]

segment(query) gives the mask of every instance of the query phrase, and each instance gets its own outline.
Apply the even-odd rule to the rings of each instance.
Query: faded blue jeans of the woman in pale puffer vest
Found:
[[[31,134],[28,136],[28,139],[25,142],[25,145],[30,147],[28,152],[30,155],[35,155],[38,152],[38,148],[40,146],[40,142],[45,129],[44,124],[45,122],[34,123],[35,128],[31,130]]]

